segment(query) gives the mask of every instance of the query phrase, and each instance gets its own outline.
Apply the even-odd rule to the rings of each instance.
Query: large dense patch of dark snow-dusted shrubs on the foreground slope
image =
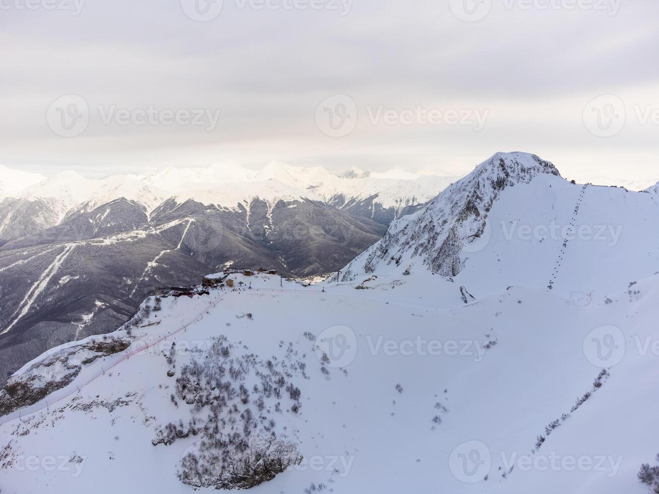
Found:
[[[286,360],[273,356],[264,361],[254,354],[236,355],[236,349],[221,336],[181,367],[171,398],[189,405],[179,409],[188,410],[190,420],[165,425],[152,441],[170,445],[184,437],[200,438],[179,470],[179,479],[194,487],[247,489],[302,459],[272,420],[273,414],[283,414],[280,402],[274,402],[281,400],[282,389],[293,400],[291,412],[297,414],[301,406],[301,391],[289,381],[299,369],[293,352],[287,350]]]

